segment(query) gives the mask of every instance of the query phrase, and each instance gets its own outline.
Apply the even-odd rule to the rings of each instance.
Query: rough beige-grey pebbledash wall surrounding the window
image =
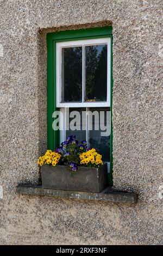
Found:
[[[0,2],[0,244],[162,244],[160,0]],[[46,34],[113,28],[115,190],[134,205],[18,196],[47,148]]]

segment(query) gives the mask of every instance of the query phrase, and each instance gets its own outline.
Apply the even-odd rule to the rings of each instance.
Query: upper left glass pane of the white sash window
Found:
[[[61,102],[82,101],[82,47],[62,48]]]

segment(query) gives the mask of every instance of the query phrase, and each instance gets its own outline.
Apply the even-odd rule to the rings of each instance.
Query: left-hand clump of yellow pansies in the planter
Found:
[[[39,164],[39,166],[42,166],[43,164],[52,164],[53,166],[56,166],[60,158],[61,154],[52,152],[52,150],[47,150],[45,155],[39,157],[37,164]]]

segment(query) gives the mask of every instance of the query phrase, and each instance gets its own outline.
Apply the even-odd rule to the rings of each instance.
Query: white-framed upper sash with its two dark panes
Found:
[[[110,107],[110,38],[56,47],[57,107]]]

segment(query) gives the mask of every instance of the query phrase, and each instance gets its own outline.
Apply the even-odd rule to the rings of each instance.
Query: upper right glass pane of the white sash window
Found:
[[[85,46],[85,101],[107,100],[107,45]]]

